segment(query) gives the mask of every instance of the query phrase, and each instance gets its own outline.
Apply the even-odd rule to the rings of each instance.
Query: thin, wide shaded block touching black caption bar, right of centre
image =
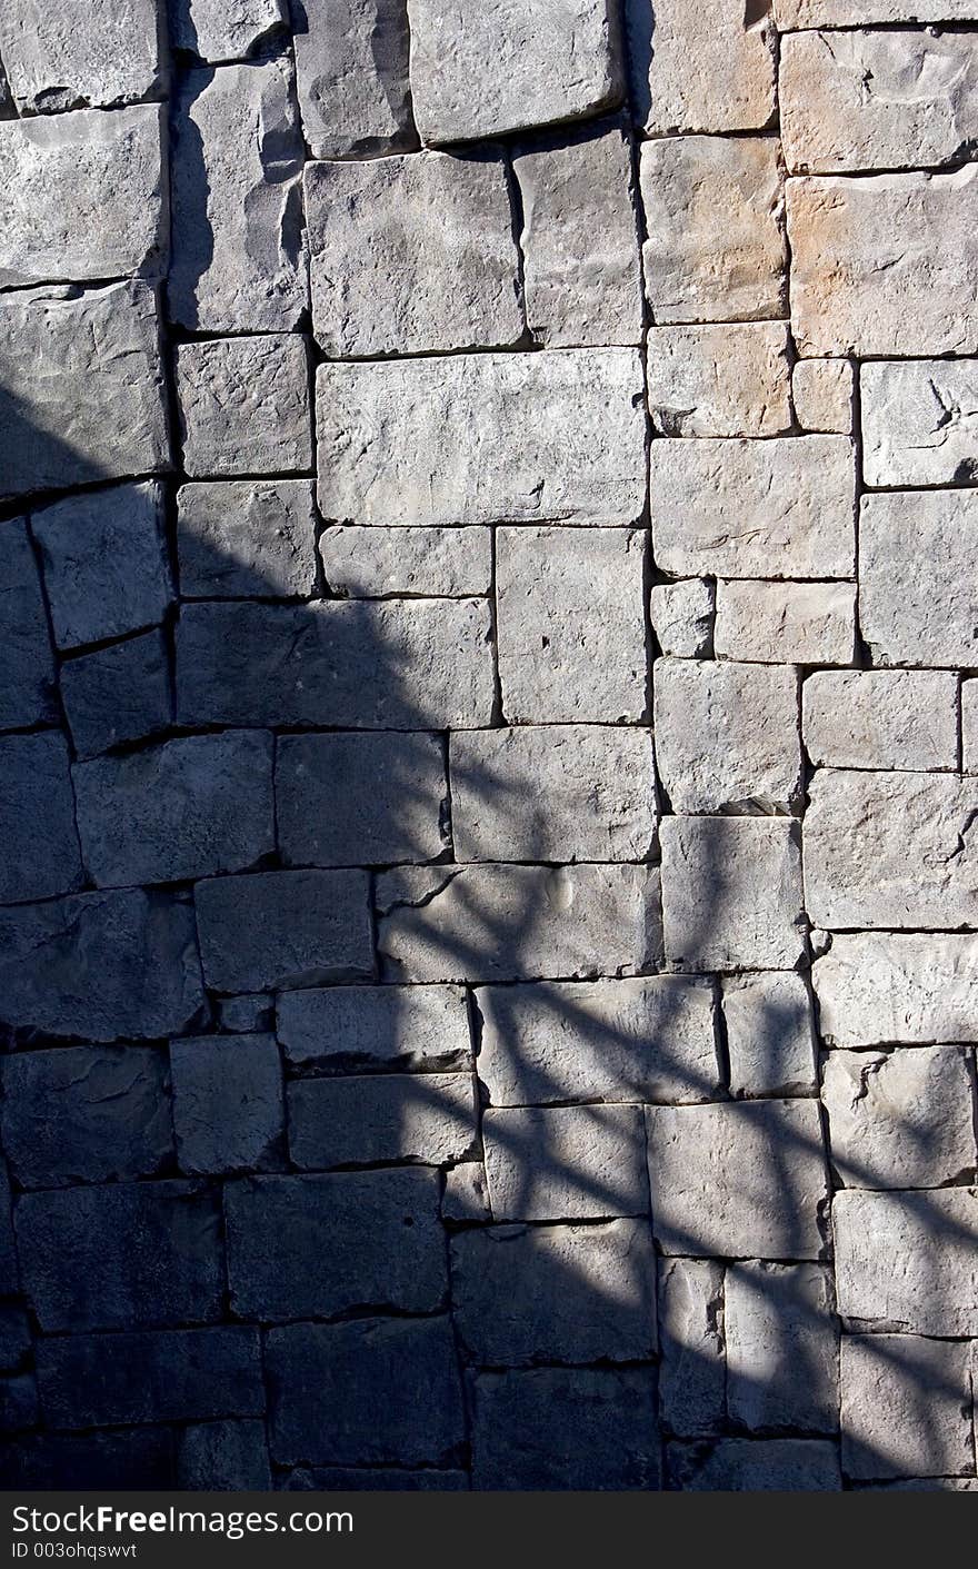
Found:
[[[842,1492],[839,1445],[824,1439],[721,1439],[669,1443],[676,1492]]]

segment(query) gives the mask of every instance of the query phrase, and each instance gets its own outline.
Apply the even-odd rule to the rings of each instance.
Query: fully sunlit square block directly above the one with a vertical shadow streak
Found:
[[[801,795],[790,667],[658,659],[655,763],[674,811],[791,811]]]

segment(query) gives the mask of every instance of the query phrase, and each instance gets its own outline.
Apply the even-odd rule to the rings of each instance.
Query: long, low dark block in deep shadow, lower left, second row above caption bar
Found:
[[[38,1382],[53,1428],[265,1411],[260,1335],[244,1324],[42,1340]]]

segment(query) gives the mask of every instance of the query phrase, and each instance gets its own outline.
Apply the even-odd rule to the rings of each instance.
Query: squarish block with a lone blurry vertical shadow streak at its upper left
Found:
[[[793,970],[804,952],[801,847],[784,817],[663,817],[671,963]]]

